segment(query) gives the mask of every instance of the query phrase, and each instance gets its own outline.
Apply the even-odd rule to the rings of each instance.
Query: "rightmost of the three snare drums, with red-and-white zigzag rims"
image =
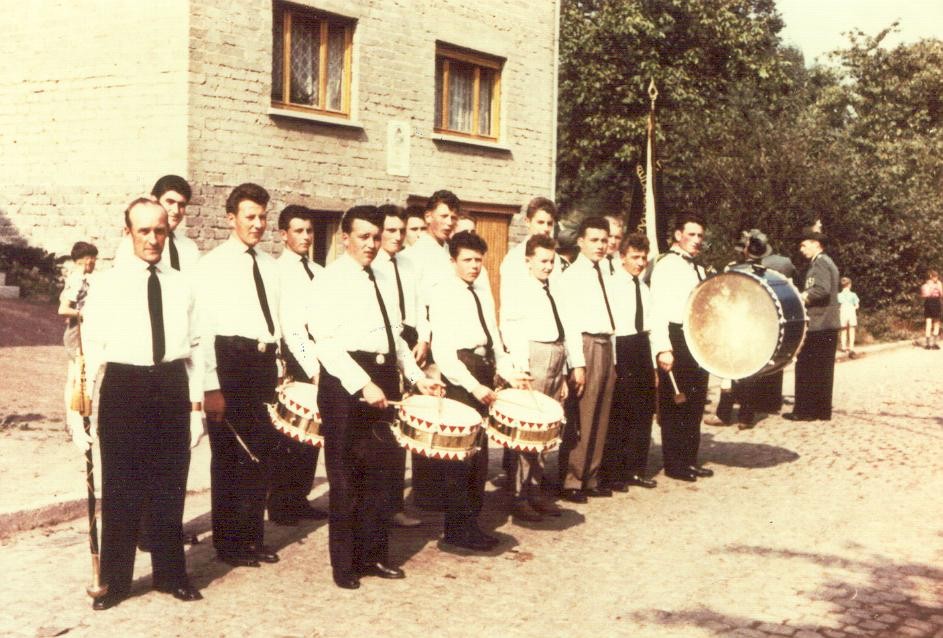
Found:
[[[546,394],[508,388],[491,404],[488,438],[517,452],[546,452],[560,444],[563,406]]]

